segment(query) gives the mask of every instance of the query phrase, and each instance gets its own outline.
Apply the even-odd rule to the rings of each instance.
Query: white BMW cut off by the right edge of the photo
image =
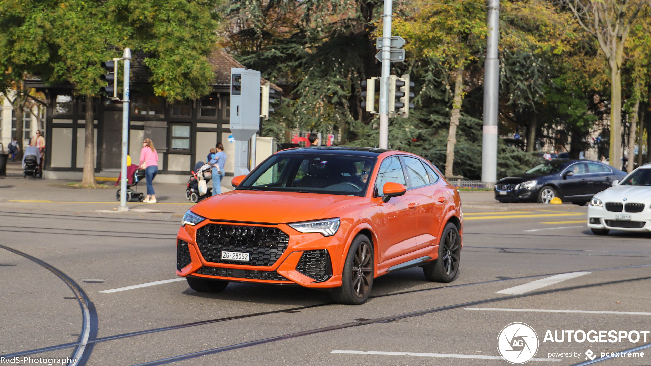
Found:
[[[597,235],[606,235],[611,229],[651,231],[651,164],[633,170],[592,197],[588,228]]]

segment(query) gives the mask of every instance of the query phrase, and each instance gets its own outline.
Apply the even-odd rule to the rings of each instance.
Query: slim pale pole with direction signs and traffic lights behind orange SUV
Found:
[[[380,148],[386,149],[389,140],[389,75],[391,74],[391,15],[392,0],[384,0],[382,22],[382,73],[380,76]]]

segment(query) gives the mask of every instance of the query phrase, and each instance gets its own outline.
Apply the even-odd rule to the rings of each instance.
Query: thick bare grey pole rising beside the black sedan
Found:
[[[482,182],[497,181],[497,105],[499,102],[499,0],[488,0],[488,39],[484,64],[484,128],[482,133]]]

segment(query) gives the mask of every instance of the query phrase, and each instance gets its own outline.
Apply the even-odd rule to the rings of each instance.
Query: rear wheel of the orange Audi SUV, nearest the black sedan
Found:
[[[422,266],[425,278],[432,282],[452,282],[459,275],[461,259],[461,236],[456,225],[448,222],[439,242],[439,256],[435,261]]]

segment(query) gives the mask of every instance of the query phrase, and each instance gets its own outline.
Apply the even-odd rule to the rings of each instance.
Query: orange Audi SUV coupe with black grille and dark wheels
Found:
[[[362,304],[373,279],[419,266],[430,281],[459,272],[459,194],[432,164],[402,151],[279,151],[231,192],[184,215],[176,274],[216,293],[229,281],[298,283]]]

